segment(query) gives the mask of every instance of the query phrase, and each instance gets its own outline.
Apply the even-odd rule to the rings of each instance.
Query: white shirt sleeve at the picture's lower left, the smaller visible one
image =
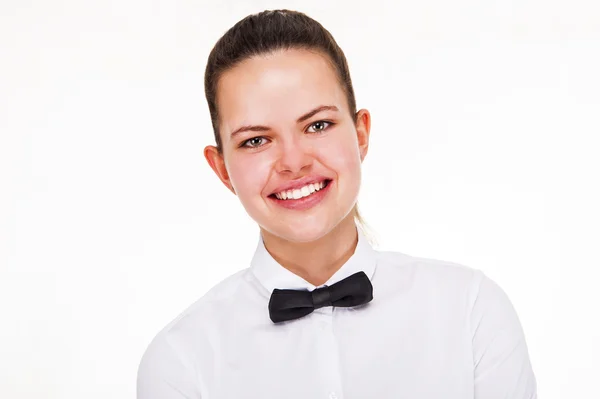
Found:
[[[160,333],[144,352],[137,374],[137,399],[201,399],[194,368]]]

